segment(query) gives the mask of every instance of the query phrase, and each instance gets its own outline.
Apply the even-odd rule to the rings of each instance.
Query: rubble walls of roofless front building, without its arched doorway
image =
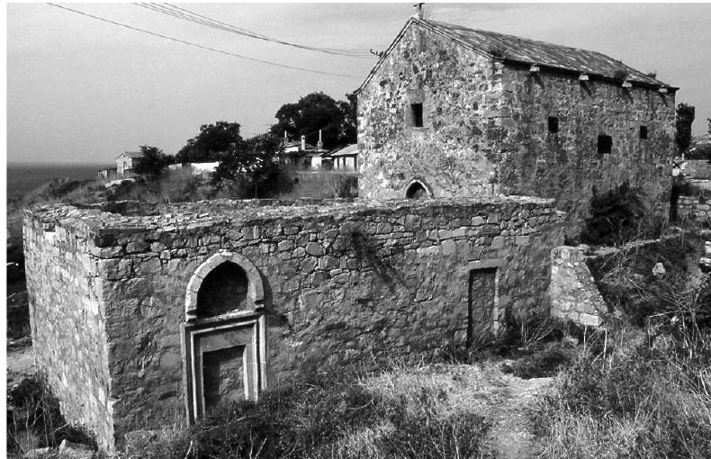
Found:
[[[106,349],[102,356],[76,354],[76,362],[100,362],[93,368],[103,368],[101,378],[59,381],[55,374],[52,381],[65,399],[105,395],[93,412],[110,419],[118,445],[129,431],[184,419],[186,292],[198,266],[215,254],[238,253],[255,266],[247,275],[258,272],[264,282],[259,313],[269,387],[372,357],[438,356],[464,346],[468,335],[500,329],[508,317],[548,307],[550,250],[563,242],[564,219],[550,200],[260,203],[104,207],[113,212],[49,206],[28,215],[35,317],[57,310],[72,318],[61,328],[35,326],[36,350],[57,347],[68,359],[79,348]],[[67,252],[49,244],[43,224],[85,246]],[[65,269],[60,259],[72,257],[85,264],[76,262],[61,284],[50,281],[53,266]],[[85,290],[52,293],[77,284]],[[102,320],[77,333],[91,308]],[[68,419],[76,420],[75,412]],[[97,434],[112,443],[111,428]]]

